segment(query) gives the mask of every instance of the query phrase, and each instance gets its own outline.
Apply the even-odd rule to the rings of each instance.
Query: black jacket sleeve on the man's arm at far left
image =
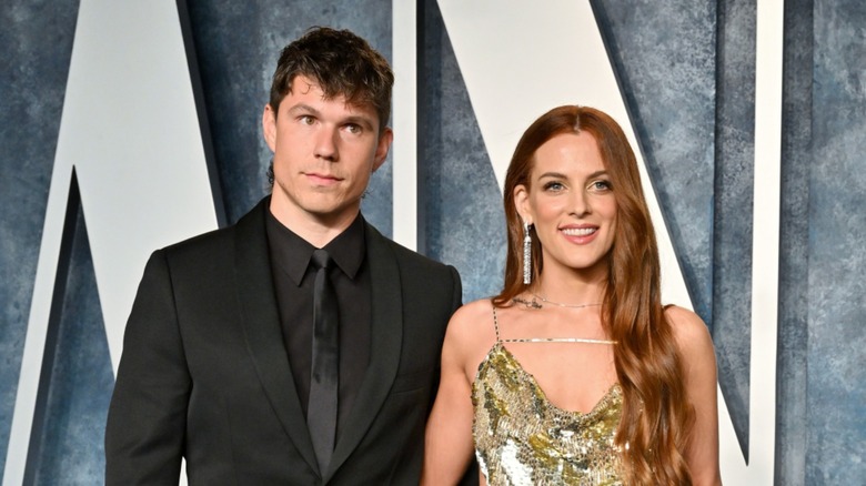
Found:
[[[154,252],[123,337],[105,427],[105,484],[178,484],[191,378],[163,251]]]

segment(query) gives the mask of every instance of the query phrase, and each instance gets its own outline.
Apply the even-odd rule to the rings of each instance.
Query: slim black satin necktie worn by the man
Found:
[[[310,402],[306,425],[313,439],[319,470],[324,475],[336,437],[338,322],[340,312],[336,293],[328,279],[328,269],[333,263],[324,250],[313,252],[313,264],[318,267],[313,284],[313,364],[310,379]]]

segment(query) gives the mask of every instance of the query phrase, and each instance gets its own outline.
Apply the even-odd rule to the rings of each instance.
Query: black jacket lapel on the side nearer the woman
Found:
[[[387,240],[370,224],[365,227],[366,257],[372,283],[371,348],[367,366],[345,429],[336,438],[336,447],[328,467],[330,479],[358,447],[387,397],[400,365],[403,342],[403,296],[400,267]]]

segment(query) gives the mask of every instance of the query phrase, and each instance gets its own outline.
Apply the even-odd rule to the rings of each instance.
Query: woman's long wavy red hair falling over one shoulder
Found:
[[[534,154],[563,133],[595,138],[617,205],[614,244],[602,300],[602,323],[614,345],[623,389],[623,415],[616,432],[626,484],[692,484],[684,458],[694,411],[687,401],[677,345],[661,302],[661,266],[637,161],[622,128],[606,113],[587,107],[558,107],[523,134],[508,165],[503,190],[508,247],[505,282],[496,306],[528,290],[523,283],[523,223],[514,189],[531,186]],[[532,234],[532,272],[544,269],[541,243]]]

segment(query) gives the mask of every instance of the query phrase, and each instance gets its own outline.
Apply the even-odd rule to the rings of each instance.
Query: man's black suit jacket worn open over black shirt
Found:
[[[283,345],[265,199],[157,251],[127,324],[105,431],[109,485],[417,484],[460,276],[366,227],[370,365],[320,472]]]

